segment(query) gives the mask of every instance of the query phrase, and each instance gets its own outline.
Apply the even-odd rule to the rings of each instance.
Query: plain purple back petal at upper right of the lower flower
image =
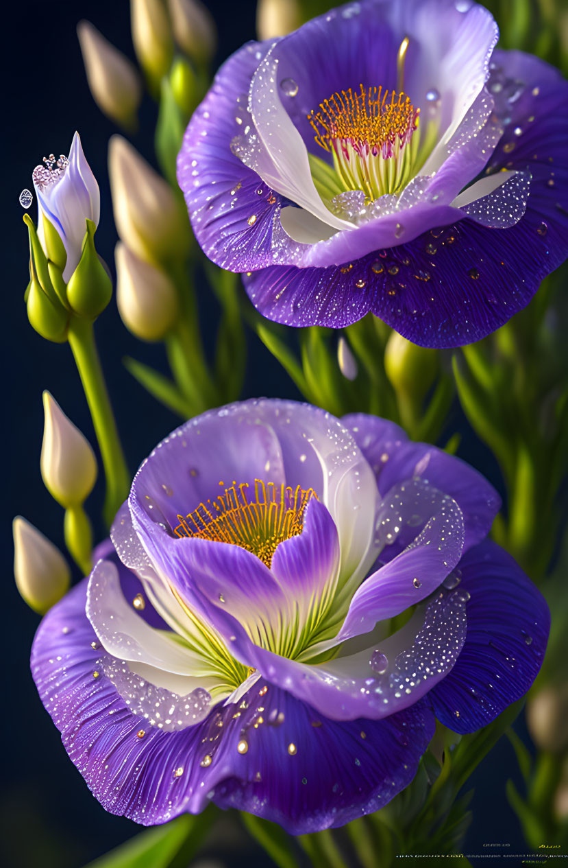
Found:
[[[393,426],[390,430],[375,416],[353,413],[343,417],[343,423],[375,470],[382,495],[403,479],[418,475],[458,503],[463,513],[464,550],[487,535],[501,502],[477,470],[435,446],[409,442],[402,429]]]

